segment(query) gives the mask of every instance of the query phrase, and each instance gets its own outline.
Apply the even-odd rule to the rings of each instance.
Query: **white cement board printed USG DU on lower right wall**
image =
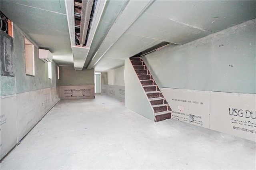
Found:
[[[256,141],[256,95],[211,92],[210,129]]]

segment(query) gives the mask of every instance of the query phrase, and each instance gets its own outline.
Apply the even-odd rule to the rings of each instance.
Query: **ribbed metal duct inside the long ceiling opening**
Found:
[[[82,0],[82,14],[81,14],[81,27],[80,27],[80,45],[84,45],[88,26],[90,23],[90,16],[92,12],[93,0]]]

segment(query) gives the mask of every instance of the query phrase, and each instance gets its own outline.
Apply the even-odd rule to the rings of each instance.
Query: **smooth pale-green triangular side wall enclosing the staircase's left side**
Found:
[[[125,107],[154,121],[154,111],[130,62],[124,62]]]

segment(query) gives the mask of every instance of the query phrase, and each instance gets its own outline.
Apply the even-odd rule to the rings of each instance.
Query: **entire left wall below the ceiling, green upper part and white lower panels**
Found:
[[[24,32],[14,24],[14,74],[1,76],[0,132],[1,159],[60,100],[56,87],[56,65],[52,62],[52,79],[48,63],[38,59],[34,44],[35,76],[25,74]],[[26,36],[27,39],[30,39]],[[2,44],[1,44],[2,45]]]

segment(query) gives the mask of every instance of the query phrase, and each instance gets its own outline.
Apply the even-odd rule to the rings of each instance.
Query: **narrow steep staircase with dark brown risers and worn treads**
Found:
[[[140,56],[130,57],[132,66],[154,110],[155,122],[171,118],[172,109]]]

